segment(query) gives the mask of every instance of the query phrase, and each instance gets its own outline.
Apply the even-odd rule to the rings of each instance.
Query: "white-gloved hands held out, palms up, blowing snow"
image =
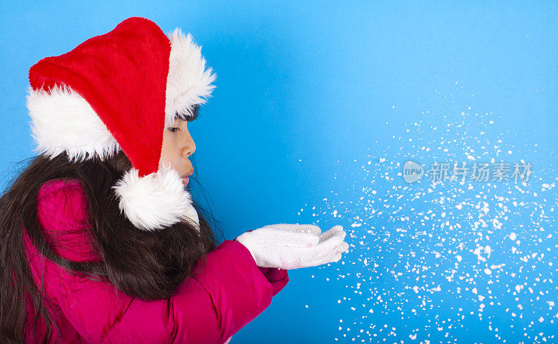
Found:
[[[340,225],[322,233],[316,225],[279,223],[249,230],[235,240],[248,248],[258,267],[298,269],[338,262],[349,249],[345,235]]]

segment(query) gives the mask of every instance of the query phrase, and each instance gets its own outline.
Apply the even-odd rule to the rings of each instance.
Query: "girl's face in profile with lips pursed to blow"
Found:
[[[163,149],[159,160],[159,168],[163,167],[163,162],[170,165],[182,177],[182,184],[188,184],[188,176],[194,173],[194,167],[188,157],[194,154],[196,145],[188,128],[187,121],[174,119],[172,126],[165,128],[163,132]]]

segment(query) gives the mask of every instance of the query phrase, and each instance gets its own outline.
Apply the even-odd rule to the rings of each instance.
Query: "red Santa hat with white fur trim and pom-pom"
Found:
[[[136,227],[157,230],[198,218],[179,172],[158,169],[163,131],[206,102],[216,79],[193,38],[142,17],[29,70],[27,107],[35,151],[72,161],[120,150],[133,165],[113,186]]]

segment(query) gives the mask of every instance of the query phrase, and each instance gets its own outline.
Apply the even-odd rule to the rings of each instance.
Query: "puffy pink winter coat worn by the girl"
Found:
[[[43,184],[37,213],[47,238],[52,231],[56,240],[63,240],[63,249],[53,245],[57,254],[76,262],[100,259],[83,237],[88,214],[80,181],[65,185],[54,179]],[[27,232],[24,240],[35,283],[41,285],[44,279],[45,298],[52,302],[49,310],[61,328],[62,343],[224,343],[262,313],[289,281],[287,270],[257,267],[246,247],[225,240],[207,255],[206,267],[184,281],[173,297],[147,302],[114,285],[71,276],[40,255]],[[28,302],[28,329],[31,311]],[[44,320],[41,324],[44,331]],[[31,338],[27,331],[27,343]]]

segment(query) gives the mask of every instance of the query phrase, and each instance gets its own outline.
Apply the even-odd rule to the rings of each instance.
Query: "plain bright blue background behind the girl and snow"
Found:
[[[188,127],[197,145],[195,176],[226,239],[271,223],[322,230],[342,224],[349,232],[352,247],[342,262],[289,271],[289,285],[232,343],[558,342],[558,308],[548,306],[558,303],[557,287],[542,282],[558,267],[557,197],[555,188],[541,191],[558,177],[556,2],[4,1],[2,182],[15,162],[33,155],[24,101],[29,68],[130,16],[147,17],[165,32],[192,33],[216,71],[213,97]],[[510,208],[513,200],[527,204],[504,211],[508,218],[497,214],[504,225],[481,236],[440,230],[447,204],[428,192],[417,203],[412,195],[428,184],[409,186],[398,176],[397,163],[409,159],[427,169],[434,160],[469,162],[467,147],[485,152],[485,160],[534,165],[527,194],[513,183],[466,185],[464,192],[459,184],[442,187],[455,202],[471,200],[473,211],[476,200],[498,209],[490,193],[508,197]],[[375,202],[364,209],[361,197]],[[425,221],[434,235],[409,234],[423,226],[418,211],[428,210],[437,214]],[[401,225],[405,216],[410,220]],[[447,218],[466,228],[482,216],[455,211]],[[510,253],[511,232],[523,236],[515,245],[520,254]],[[443,271],[458,266],[455,242],[465,243],[463,260],[449,283]],[[478,244],[492,248],[488,262],[472,253]],[[525,262],[532,253],[536,265]],[[419,261],[435,271],[421,283],[408,268]],[[502,262],[498,275],[483,274]],[[469,273],[484,301],[470,291]],[[513,294],[523,283],[525,290]],[[437,285],[442,291],[432,292]],[[501,297],[494,305],[492,290]],[[432,307],[422,304],[426,299]]]

